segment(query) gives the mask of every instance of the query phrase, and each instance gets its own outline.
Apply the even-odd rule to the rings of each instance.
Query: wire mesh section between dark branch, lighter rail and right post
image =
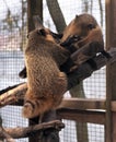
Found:
[[[83,82],[85,96],[88,98],[105,98],[106,76],[105,68],[95,71],[92,76]]]

